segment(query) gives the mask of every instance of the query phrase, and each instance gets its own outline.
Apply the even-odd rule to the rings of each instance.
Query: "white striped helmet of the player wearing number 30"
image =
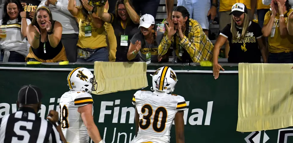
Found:
[[[176,73],[170,67],[163,66],[152,75],[151,89],[158,93],[172,93],[177,83]]]

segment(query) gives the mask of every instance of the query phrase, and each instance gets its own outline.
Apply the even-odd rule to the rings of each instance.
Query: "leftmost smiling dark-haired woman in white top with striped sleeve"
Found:
[[[19,0],[4,2],[3,19],[0,20],[0,61],[25,62],[28,55],[26,29],[30,20]]]

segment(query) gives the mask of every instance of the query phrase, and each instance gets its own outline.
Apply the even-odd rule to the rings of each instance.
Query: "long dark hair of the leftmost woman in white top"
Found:
[[[22,7],[20,1],[19,0],[6,0],[4,2],[4,8],[3,8],[4,12],[2,14],[2,18],[3,18],[2,19],[2,24],[4,24],[4,25],[7,24],[7,21],[9,21],[9,18],[10,18],[9,15],[8,15],[8,13],[7,13],[7,5],[9,3],[15,3],[17,5],[18,16],[16,18],[16,22],[20,22],[21,21],[21,16],[20,16],[19,13],[23,11],[23,7]]]

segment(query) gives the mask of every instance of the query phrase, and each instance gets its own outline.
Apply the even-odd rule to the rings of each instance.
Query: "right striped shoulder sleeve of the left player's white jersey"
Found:
[[[81,107],[88,104],[93,104],[94,100],[91,97],[91,94],[87,92],[77,92],[77,96],[74,99],[74,106]]]

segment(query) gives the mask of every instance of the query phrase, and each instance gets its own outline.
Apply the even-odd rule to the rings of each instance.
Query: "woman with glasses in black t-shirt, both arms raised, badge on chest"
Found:
[[[139,16],[128,0],[117,0],[115,13],[104,13],[104,7],[98,7],[98,16],[112,24],[117,41],[116,62],[138,62],[139,56],[127,59],[128,47],[132,36],[139,32]]]

